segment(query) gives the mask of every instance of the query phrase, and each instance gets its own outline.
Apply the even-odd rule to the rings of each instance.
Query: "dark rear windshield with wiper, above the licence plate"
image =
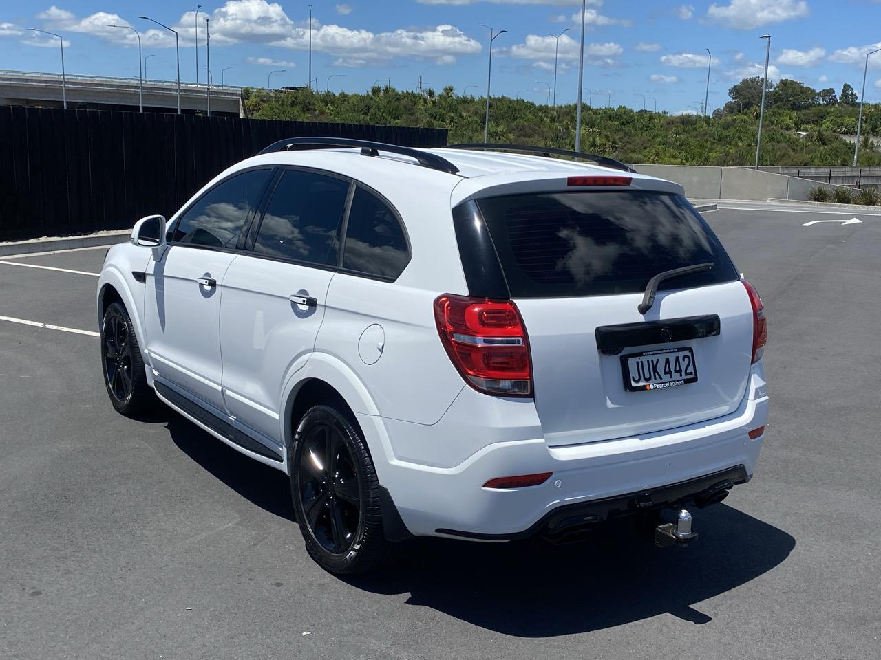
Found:
[[[645,290],[665,270],[712,262],[662,289],[737,279],[719,239],[685,199],[645,191],[512,194],[478,200],[512,297]]]

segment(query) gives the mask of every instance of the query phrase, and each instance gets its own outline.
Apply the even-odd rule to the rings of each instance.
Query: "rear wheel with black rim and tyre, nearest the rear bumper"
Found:
[[[359,575],[386,554],[373,460],[351,418],[333,404],[311,407],[294,434],[293,510],[310,557],[337,575]]]

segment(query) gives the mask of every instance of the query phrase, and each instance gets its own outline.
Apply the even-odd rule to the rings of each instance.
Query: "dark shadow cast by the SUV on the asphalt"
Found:
[[[228,488],[294,521],[284,473],[242,456],[173,411],[163,411],[174,444]],[[750,488],[748,485],[738,488]],[[749,583],[785,561],[796,539],[725,504],[694,511],[700,539],[655,548],[626,522],[589,539],[553,546],[543,539],[505,544],[412,539],[396,544],[369,576],[344,578],[359,590],[410,594],[479,627],[548,637],[620,626],[670,613],[703,624],[700,602]]]

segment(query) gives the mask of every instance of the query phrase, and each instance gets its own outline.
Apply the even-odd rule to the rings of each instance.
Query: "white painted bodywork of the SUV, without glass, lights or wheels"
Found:
[[[132,312],[151,385],[158,374],[226,415],[282,459],[243,449],[186,416],[285,472],[300,387],[313,379],[332,387],[358,420],[381,485],[414,534],[511,534],[567,503],[736,466],[751,474],[763,436],[747,434],[766,423],[767,391],[761,362],[750,364],[751,306],[740,282],[662,291],[645,317],[636,294],[518,299],[534,398],[500,398],[465,385],[433,316],[442,293],[469,293],[451,209],[482,195],[565,189],[572,174],[621,172],[435,151],[465,178],[406,157],[305,150],[249,158],[199,192],[254,165],[305,165],[373,187],[400,214],[411,247],[395,282],[174,245],[154,263],[149,248],[126,244],[107,255],[99,304],[109,286]],[[677,184],[639,174],[633,188],[682,194]],[[136,271],[148,274],[145,283],[134,279]],[[196,282],[202,276],[217,286],[205,290]],[[317,306],[292,304],[295,293],[315,297]],[[596,326],[712,313],[722,321],[718,336],[682,342],[694,350],[695,384],[625,392],[619,357],[596,348]],[[538,487],[482,488],[492,478],[541,472],[553,477]]]

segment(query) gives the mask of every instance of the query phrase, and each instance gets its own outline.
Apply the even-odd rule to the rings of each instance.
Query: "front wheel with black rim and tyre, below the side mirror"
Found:
[[[101,373],[107,396],[116,412],[126,416],[144,413],[155,399],[144,370],[144,359],[129,312],[112,303],[101,320]]]

